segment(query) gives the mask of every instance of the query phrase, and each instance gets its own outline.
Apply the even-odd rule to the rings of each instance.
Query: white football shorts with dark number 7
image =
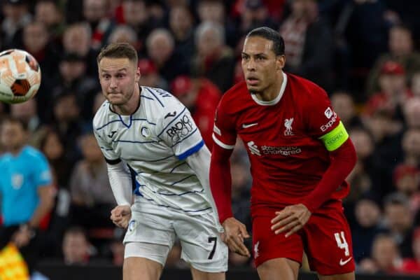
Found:
[[[202,272],[228,270],[228,246],[221,240],[212,213],[193,216],[164,207],[142,206],[132,207],[124,238],[125,258],[148,258],[165,265],[178,237],[181,258],[195,269]]]

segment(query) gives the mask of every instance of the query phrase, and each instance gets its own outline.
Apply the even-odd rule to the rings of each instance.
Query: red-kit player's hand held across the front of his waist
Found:
[[[287,232],[286,237],[290,237],[307,223],[311,212],[303,204],[295,204],[285,207],[276,212],[276,218],[272,219],[272,230],[279,235]]]

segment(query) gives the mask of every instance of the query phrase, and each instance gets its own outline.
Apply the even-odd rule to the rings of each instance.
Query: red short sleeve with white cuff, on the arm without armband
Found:
[[[218,146],[233,149],[237,139],[235,123],[225,110],[223,99],[219,102],[214,115],[213,140]]]

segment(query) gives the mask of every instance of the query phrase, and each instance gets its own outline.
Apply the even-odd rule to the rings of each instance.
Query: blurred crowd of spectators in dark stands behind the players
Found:
[[[223,92],[243,80],[241,48],[255,27],[278,30],[288,73],[328,91],[356,146],[344,211],[357,271],[420,274],[420,1],[0,0],[0,49],[20,48],[42,71],[34,99],[1,116],[22,120],[54,175],[43,258],[123,262],[123,230],[106,163],[92,134],[104,102],[96,56],[111,42],[139,53],[141,85],[172,92],[211,147]],[[251,230],[246,151],[232,158],[233,211]],[[1,154],[1,147],[0,147]],[[1,199],[0,199],[1,201]],[[186,267],[179,245],[168,266]],[[230,267],[252,267],[230,254]]]

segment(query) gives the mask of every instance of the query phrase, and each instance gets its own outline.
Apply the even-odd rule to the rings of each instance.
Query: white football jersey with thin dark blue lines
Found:
[[[123,160],[135,172],[134,194],[152,204],[188,214],[211,211],[204,189],[186,158],[204,146],[193,118],[172,94],[141,87],[140,104],[121,116],[104,102],[93,130],[108,162]]]

